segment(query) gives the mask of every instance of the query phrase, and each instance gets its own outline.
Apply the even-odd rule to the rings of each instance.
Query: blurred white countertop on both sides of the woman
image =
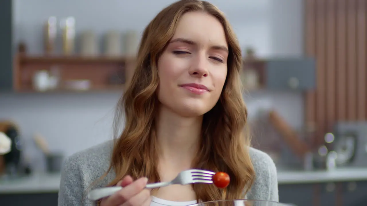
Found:
[[[367,168],[334,171],[278,171],[279,184],[367,181]],[[0,180],[0,194],[57,192],[60,174],[34,174],[13,180]]]

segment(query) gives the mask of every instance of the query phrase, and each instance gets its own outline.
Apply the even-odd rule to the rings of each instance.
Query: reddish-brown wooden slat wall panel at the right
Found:
[[[316,91],[306,92],[315,146],[336,121],[367,119],[367,1],[305,0],[306,55],[317,60]]]

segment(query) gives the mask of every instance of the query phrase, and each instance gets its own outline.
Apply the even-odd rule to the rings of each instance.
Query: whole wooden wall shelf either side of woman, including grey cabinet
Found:
[[[247,91],[258,89],[305,91],[315,88],[315,59],[266,58],[244,60],[243,70],[257,73],[257,87],[246,87]],[[46,92],[120,91],[130,82],[135,69],[135,58],[84,57],[84,56],[29,56],[18,53],[14,58],[13,90],[15,92],[39,92],[34,88],[34,77],[39,71],[58,74],[59,85]],[[244,75],[243,77],[248,77]],[[65,89],[66,82],[87,80],[88,89]],[[84,82],[86,83],[86,82]],[[68,87],[69,88],[69,87]]]

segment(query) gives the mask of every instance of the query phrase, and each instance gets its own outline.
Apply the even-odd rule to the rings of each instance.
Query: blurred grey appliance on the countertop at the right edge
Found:
[[[367,166],[367,122],[337,122],[333,134],[337,166]]]

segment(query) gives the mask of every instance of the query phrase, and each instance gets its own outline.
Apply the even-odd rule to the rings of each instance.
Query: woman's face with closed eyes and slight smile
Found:
[[[221,23],[204,12],[184,14],[158,61],[158,99],[185,116],[207,113],[227,76],[228,44]]]

